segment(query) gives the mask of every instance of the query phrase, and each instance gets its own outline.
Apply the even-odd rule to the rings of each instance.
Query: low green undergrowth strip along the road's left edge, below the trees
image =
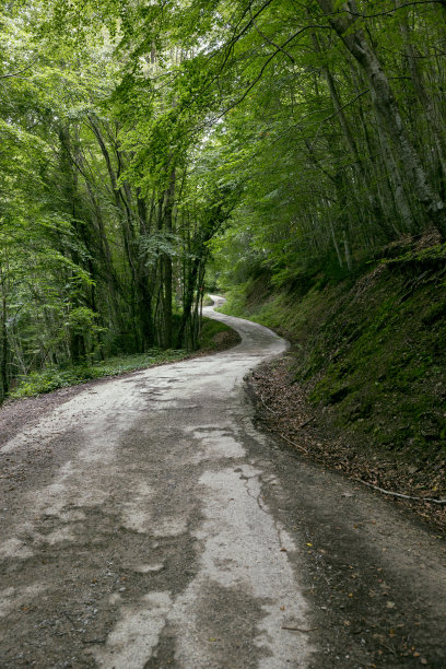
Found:
[[[222,348],[222,333],[232,333],[233,330],[223,322],[203,318],[201,329],[200,351],[216,351]],[[230,342],[231,343],[231,342]],[[102,362],[82,364],[70,367],[48,366],[42,372],[32,372],[23,376],[9,399],[34,397],[44,392],[51,392],[59,388],[77,386],[89,380],[118,376],[128,372],[137,372],[169,362],[186,360],[193,355],[185,350],[151,349],[144,353],[133,355],[117,355]]]

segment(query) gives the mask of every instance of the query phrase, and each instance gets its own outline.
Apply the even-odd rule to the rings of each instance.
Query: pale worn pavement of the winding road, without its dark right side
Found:
[[[242,343],[81,391],[3,446],[30,467],[2,512],[2,667],[305,666],[295,539],[262,500],[243,387],[286,343],[206,312]]]

